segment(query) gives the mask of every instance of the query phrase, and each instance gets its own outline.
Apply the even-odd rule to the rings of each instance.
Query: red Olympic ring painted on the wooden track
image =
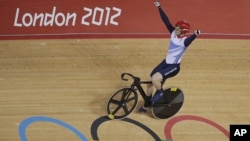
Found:
[[[218,130],[220,130],[228,139],[230,138],[230,133],[225,129],[223,128],[222,126],[220,126],[219,124],[211,121],[211,120],[208,120],[206,118],[203,118],[203,117],[198,117],[198,116],[192,116],[192,115],[182,115],[182,116],[177,116],[177,117],[174,117],[172,119],[170,119],[167,124],[165,125],[165,137],[167,140],[173,140],[172,139],[172,134],[171,134],[171,130],[172,130],[172,127],[177,123],[177,122],[180,122],[180,121],[183,121],[183,120],[195,120],[195,121],[200,121],[200,122],[204,122],[204,123],[207,123],[215,128],[217,128]]]

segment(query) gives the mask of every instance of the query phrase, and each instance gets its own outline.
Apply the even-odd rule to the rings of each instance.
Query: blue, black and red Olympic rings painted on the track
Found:
[[[125,122],[129,122],[129,123],[132,123],[142,129],[144,129],[146,132],[148,132],[154,139],[155,141],[173,141],[172,139],[172,134],[171,134],[171,131],[172,131],[172,128],[173,126],[177,123],[177,122],[180,122],[180,121],[184,121],[184,120],[194,120],[194,121],[200,121],[200,122],[204,122],[204,123],[207,123],[215,128],[217,128],[219,131],[221,131],[228,139],[230,138],[230,134],[229,132],[224,129],[222,126],[220,126],[219,124],[209,120],[209,119],[206,119],[206,118],[203,118],[203,117],[198,117],[198,116],[193,116],[193,115],[182,115],[182,116],[176,116],[176,117],[173,117],[171,118],[165,125],[165,128],[164,128],[164,132],[165,132],[165,137],[166,137],[166,140],[161,140],[156,133],[154,133],[150,128],[148,128],[147,126],[145,126],[144,124],[138,122],[138,121],[135,121],[135,120],[132,120],[132,119],[129,119],[129,118],[125,118],[123,119],[122,121],[125,121]],[[77,129],[75,129],[73,126],[63,122],[63,121],[60,121],[58,119],[54,119],[54,118],[50,118],[50,117],[43,117],[43,116],[34,116],[34,117],[30,117],[30,118],[27,118],[25,119],[20,125],[19,125],[19,135],[20,135],[20,138],[21,138],[21,141],[27,141],[27,137],[26,137],[26,128],[34,123],[34,122],[39,122],[39,121],[47,121],[47,122],[51,122],[51,123],[55,123],[55,124],[58,124],[60,126],[63,126],[65,128],[67,128],[68,130],[70,130],[71,132],[73,132],[75,135],[77,135],[81,141],[87,141],[86,137],[80,132],[78,131]],[[109,118],[107,118],[107,116],[103,116],[103,117],[100,117],[98,119],[96,119],[92,125],[91,125],[91,136],[92,136],[92,139],[93,140],[99,140],[98,138],[98,135],[97,135],[97,130],[98,130],[98,127],[103,123],[103,122],[106,122],[106,121],[110,121]]]

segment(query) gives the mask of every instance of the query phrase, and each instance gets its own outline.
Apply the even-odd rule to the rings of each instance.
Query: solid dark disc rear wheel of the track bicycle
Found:
[[[164,90],[164,96],[152,107],[155,118],[165,119],[175,115],[182,107],[184,95],[181,89],[171,87]]]

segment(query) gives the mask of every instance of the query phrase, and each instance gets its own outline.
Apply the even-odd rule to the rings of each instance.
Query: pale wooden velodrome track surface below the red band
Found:
[[[105,115],[108,97],[130,85],[120,79],[121,73],[147,79],[168,43],[168,39],[1,41],[0,141],[24,136],[30,141],[80,140],[75,132],[45,121],[30,124],[21,134],[20,125],[34,116],[63,121],[92,140],[91,125]],[[230,124],[249,124],[249,44],[249,40],[197,39],[186,52],[179,75],[164,85],[184,91],[184,105],[174,117],[203,117],[228,132]],[[166,140],[169,119],[137,111],[129,118]],[[228,141],[218,129],[195,120],[176,124],[171,133],[175,141]],[[143,129],[120,120],[101,124],[98,136],[101,141],[153,140]]]

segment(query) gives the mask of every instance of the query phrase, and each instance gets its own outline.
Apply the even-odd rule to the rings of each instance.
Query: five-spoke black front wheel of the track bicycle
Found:
[[[138,95],[132,88],[122,88],[108,100],[106,112],[110,119],[127,117],[136,107]]]

